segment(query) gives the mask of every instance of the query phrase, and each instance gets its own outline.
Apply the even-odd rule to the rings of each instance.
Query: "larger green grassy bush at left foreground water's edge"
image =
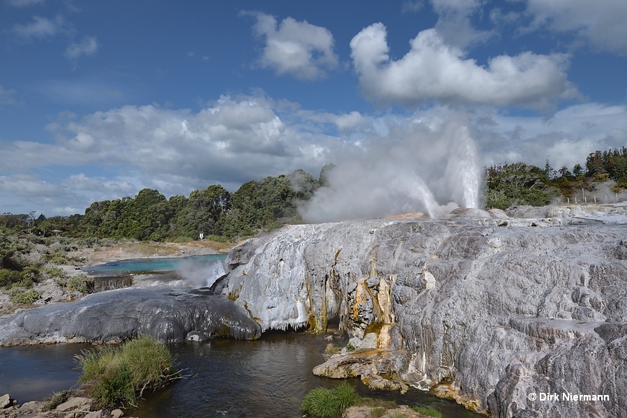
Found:
[[[160,389],[179,378],[165,344],[148,336],[121,347],[84,350],[76,360],[86,394],[103,408],[123,403],[135,405],[146,389]]]

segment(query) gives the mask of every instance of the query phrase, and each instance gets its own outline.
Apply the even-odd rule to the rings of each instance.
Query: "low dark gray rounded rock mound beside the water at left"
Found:
[[[254,339],[257,322],[232,301],[208,290],[121,289],[90,294],[0,318],[0,345],[116,342],[148,334],[160,341],[211,336]]]

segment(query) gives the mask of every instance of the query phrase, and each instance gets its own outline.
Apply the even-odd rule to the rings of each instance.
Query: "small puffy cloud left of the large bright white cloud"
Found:
[[[256,17],[253,29],[266,42],[259,57],[262,67],[272,68],[277,75],[316,80],[338,65],[333,35],[328,29],[292,17],[278,24],[273,16],[264,13],[247,14]]]

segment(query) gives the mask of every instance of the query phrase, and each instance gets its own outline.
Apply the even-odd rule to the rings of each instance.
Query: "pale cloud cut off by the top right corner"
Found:
[[[526,1],[532,27],[575,32],[598,50],[627,54],[627,1]]]

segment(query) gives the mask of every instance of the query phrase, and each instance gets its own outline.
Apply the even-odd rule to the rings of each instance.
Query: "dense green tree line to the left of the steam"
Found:
[[[324,181],[324,176],[322,177]],[[304,170],[248,181],[230,193],[218,184],[167,199],[144,188],[133,197],[93,202],[84,215],[38,218],[31,214],[0,215],[0,225],[36,234],[63,232],[84,238],[186,241],[200,234],[217,240],[250,237],[260,231],[299,223],[299,203],[322,185]]]

